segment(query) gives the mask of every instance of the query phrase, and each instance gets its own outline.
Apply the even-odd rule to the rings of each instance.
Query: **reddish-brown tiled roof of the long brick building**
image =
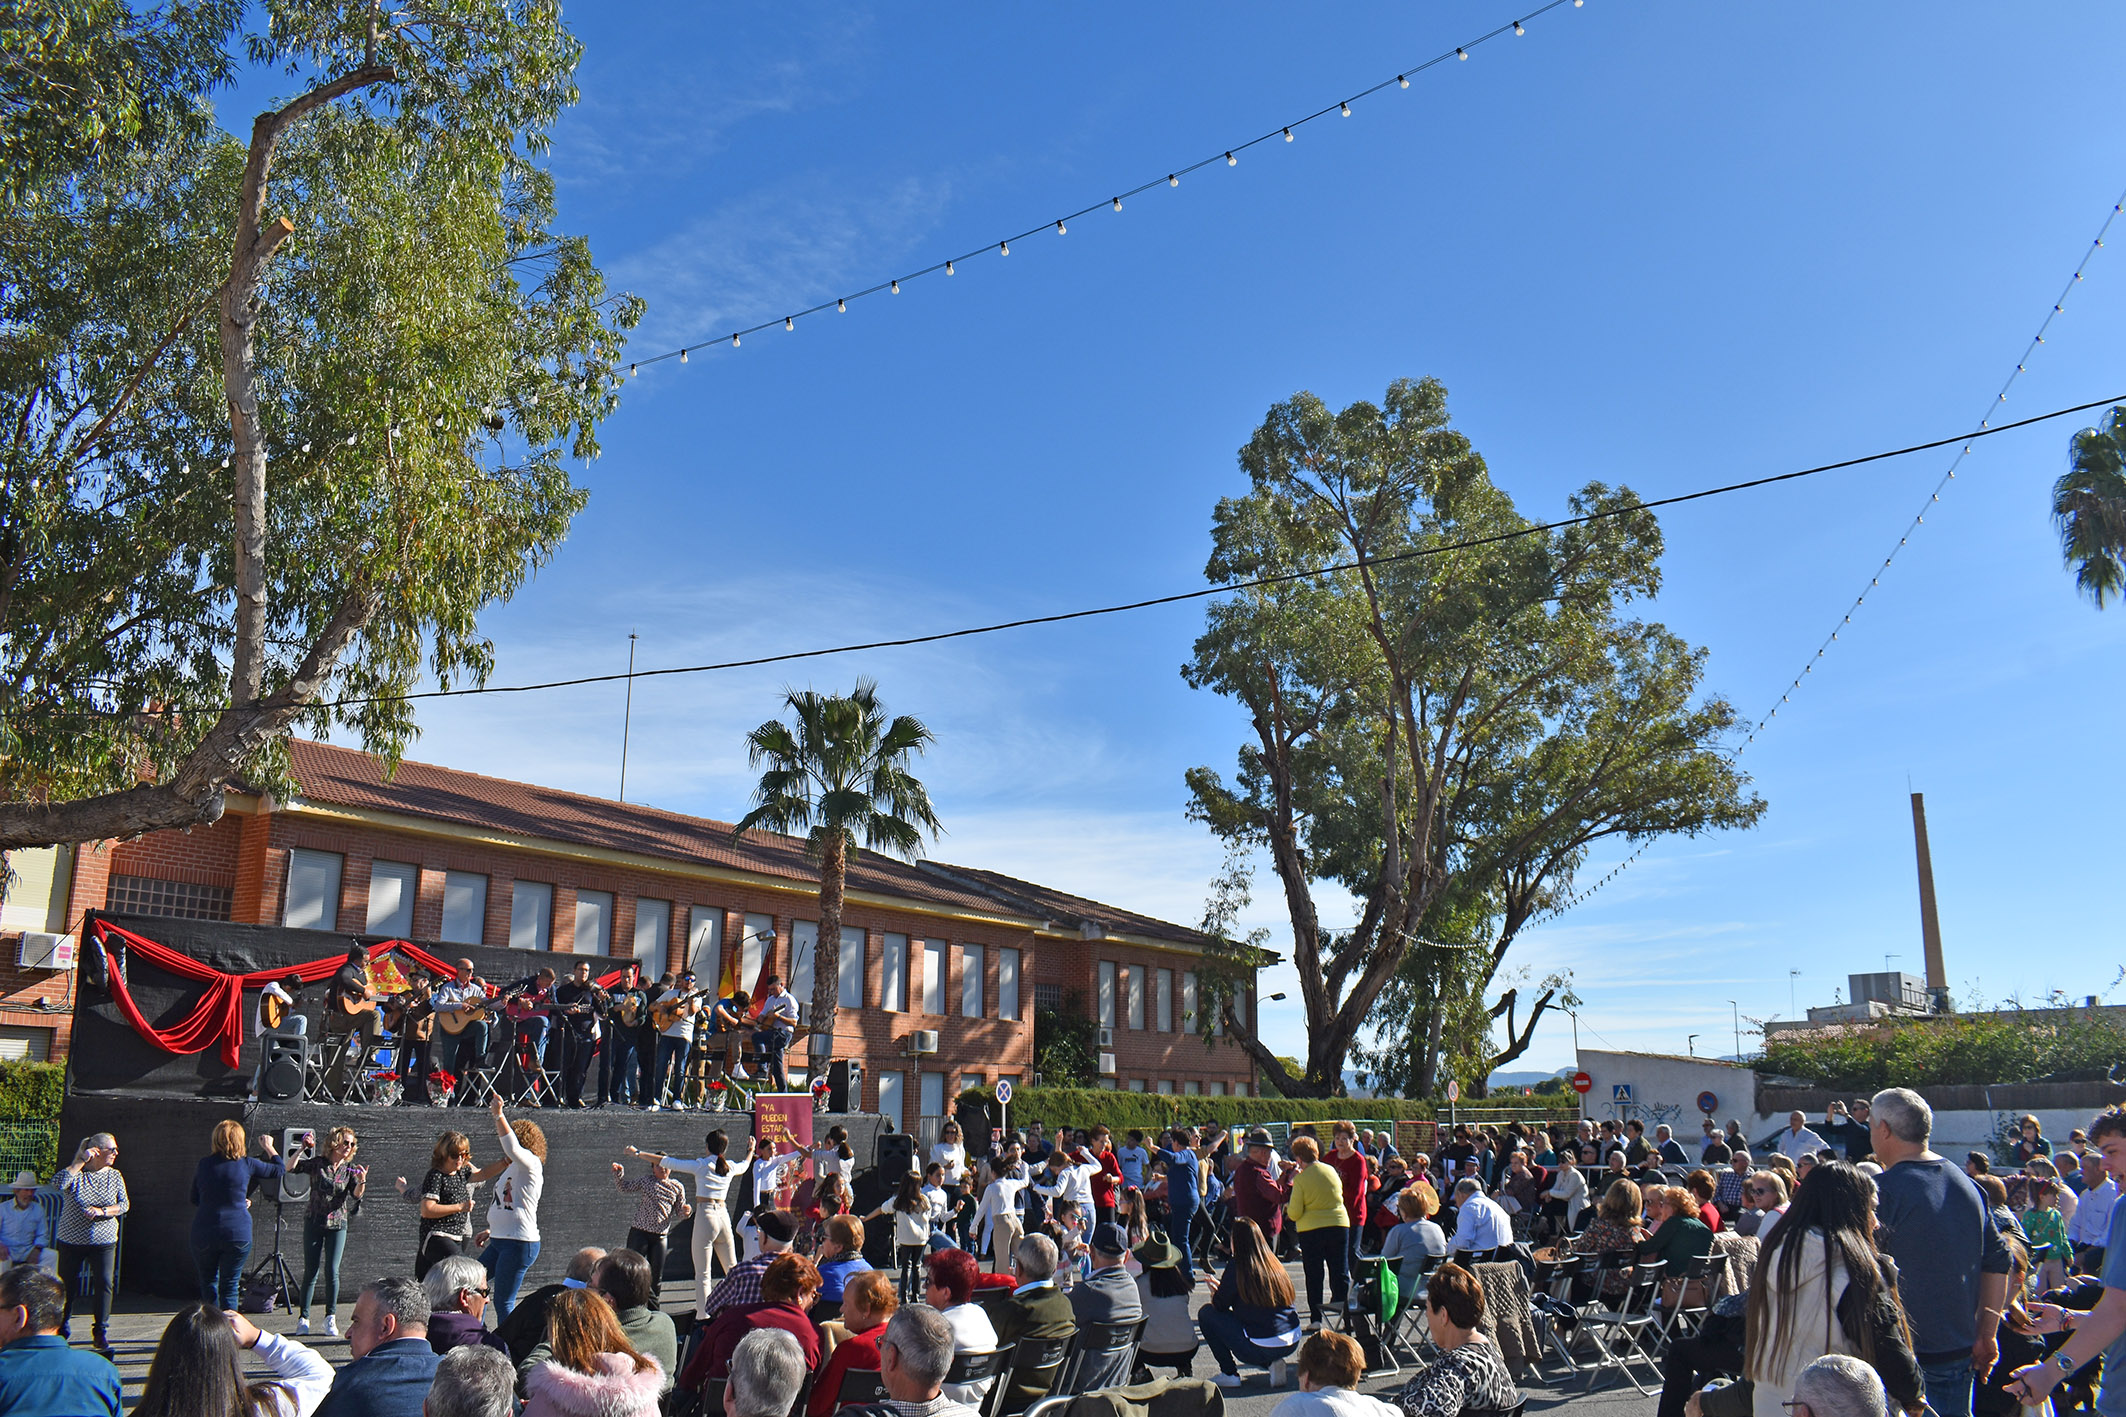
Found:
[[[381,758],[306,739],[289,744],[289,758],[302,797],[321,805],[393,812],[665,860],[710,863],[795,882],[816,880],[799,837],[746,833],[744,841],[733,841],[729,822],[429,763],[402,761],[398,773],[387,780]],[[972,867],[931,860],[910,865],[878,852],[861,852],[850,863],[848,888],[923,905],[1052,920],[1069,931],[1099,926],[1116,935],[1144,935],[1186,945],[1208,943],[1201,933],[1186,926],[1101,905],[1065,890]]]

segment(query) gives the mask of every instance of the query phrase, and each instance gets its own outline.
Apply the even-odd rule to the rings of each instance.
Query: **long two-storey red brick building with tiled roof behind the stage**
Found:
[[[17,852],[0,960],[17,958],[15,931],[104,907],[634,956],[651,977],[691,967],[704,984],[731,950],[748,988],[772,964],[810,1005],[819,880],[797,839],[733,843],[725,822],[421,763],[385,780],[381,761],[325,744],[291,756],[293,801],[230,795],[189,833]],[[865,1109],[918,1128],[963,1086],[1027,1081],[1033,1011],[1078,996],[1112,1030],[1103,1086],[1248,1094],[1246,1054],[1191,1024],[1205,943],[993,871],[865,852],[848,871],[833,1056],[863,1060]],[[70,971],[0,964],[0,1049],[62,1058],[70,988]],[[938,1035],[935,1054],[912,1054],[918,1032]]]

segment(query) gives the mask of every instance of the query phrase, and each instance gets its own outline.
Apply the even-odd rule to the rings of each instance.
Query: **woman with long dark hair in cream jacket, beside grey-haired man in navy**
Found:
[[[1850,1162],[1813,1166],[1794,1192],[1756,1258],[1743,1334],[1756,1417],[1788,1417],[1794,1377],[1824,1353],[1871,1364],[1892,1402],[1918,1411],[1896,1268],[1875,1251],[1875,1183]]]

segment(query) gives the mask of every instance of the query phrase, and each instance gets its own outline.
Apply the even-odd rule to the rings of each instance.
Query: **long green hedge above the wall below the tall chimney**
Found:
[[[2122,1060],[2126,1024],[2117,1018],[2032,1009],[1773,1032],[1758,1071],[1860,1092],[2103,1077]]]

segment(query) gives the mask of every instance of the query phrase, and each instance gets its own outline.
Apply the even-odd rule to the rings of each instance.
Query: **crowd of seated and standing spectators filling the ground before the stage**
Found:
[[[2058,1151],[2028,1117],[1998,1168],[1928,1149],[1930,1111],[1899,1088],[1833,1107],[1822,1130],[1794,1113],[1754,1147],[1711,1122],[1690,1149],[1667,1126],[1580,1122],[1461,1126],[1410,1156],[1352,1124],[1331,1126],[1327,1149],[1307,1128],[1284,1151],[1263,1128],[1125,1132],[1116,1145],[1106,1126],[1033,1124],[976,1158],[948,1126],[861,1215],[842,1128],[810,1154],[767,1156],[716,1130],[699,1156],[627,1147],[636,1166],[612,1164],[619,1198],[604,1202],[627,1215],[625,1247],[583,1249],[563,1279],[529,1294],[546,1137],[500,1100],[489,1111],[491,1162],[474,1164],[472,1141],[444,1130],[427,1175],[395,1179],[419,1217],[410,1275],[359,1285],[340,1368],[302,1338],[319,1298],[325,1334],[338,1330],[347,1230],[368,1196],[357,1134],[338,1126],[321,1147],[304,1139],[298,1156],[279,1156],[272,1139],[217,1124],[191,1194],[200,1298],[164,1332],[136,1411],[646,1417],[674,1394],[714,1394],[727,1411],[770,1417],[759,1404],[782,1394],[772,1417],[787,1417],[808,1394],[810,1417],[829,1417],[865,1389],[853,1375],[876,1375],[867,1392],[904,1417],[972,1417],[997,1383],[1018,1411],[1059,1381],[1054,1364],[976,1360],[1023,1360],[1025,1345],[1061,1353],[1142,1324],[1133,1351],[1091,1345],[1072,1389],[1193,1375],[1208,1351],[1227,1389],[1244,1370],[1273,1387],[1297,1370],[1278,1417],[1367,1417],[1382,1402],[1356,1394],[1365,1353],[1329,1330],[1363,1264],[1380,1264],[1420,1296],[1433,1351],[1386,1406],[1465,1417],[1518,1402],[1486,1334],[1486,1264],[1535,1275],[1546,1256],[1577,1251],[1694,1275],[1731,1232],[1750,1245],[1748,1285],[1667,1347],[1660,1417],[1786,1417],[1811,1406],[1807,1392],[1843,1402],[1856,1372],[1884,1406],[1811,1406],[1811,1417],[1888,1406],[2007,1417],[2062,1383],[2062,1406],[2126,1415],[2096,1364],[2126,1372],[2126,1241],[2113,1234],[2126,1224],[2115,1205],[2126,1109]],[[55,1177],[51,1234],[0,1215],[0,1417],[119,1411],[108,1283],[130,1196],[117,1156],[111,1134],[77,1147]],[[804,1160],[812,1179],[797,1188]],[[293,1334],[270,1334],[238,1313],[236,1281],[251,1249],[247,1196],[289,1171],[308,1179],[302,1309]],[[17,1192],[13,1209],[40,1217],[34,1190]],[[695,1302],[682,1345],[657,1290],[670,1230],[689,1219]],[[880,1226],[891,1260],[874,1247],[874,1266],[865,1247]],[[53,1268],[81,1283],[62,1285]],[[1631,1264],[1590,1266],[1586,1290],[1567,1298],[1599,1307],[1629,1275]],[[87,1349],[70,1343],[77,1290],[96,1313]],[[1682,1300],[1680,1287],[1660,1294]],[[272,1377],[247,1383],[247,1362]]]

